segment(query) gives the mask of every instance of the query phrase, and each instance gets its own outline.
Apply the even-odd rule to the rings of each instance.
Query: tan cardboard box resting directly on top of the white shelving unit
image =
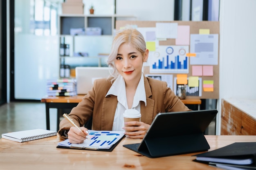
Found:
[[[62,13],[64,14],[83,14],[83,3],[62,3]]]

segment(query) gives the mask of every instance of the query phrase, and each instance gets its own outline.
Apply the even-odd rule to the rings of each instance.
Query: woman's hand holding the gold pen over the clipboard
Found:
[[[83,132],[72,126],[67,132],[68,139],[71,144],[81,144],[86,139],[86,136],[88,135],[88,129],[85,127],[80,127],[80,129]]]

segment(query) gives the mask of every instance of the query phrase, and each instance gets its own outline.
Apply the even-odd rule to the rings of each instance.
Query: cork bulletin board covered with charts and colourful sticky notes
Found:
[[[188,99],[219,98],[219,22],[117,20],[115,27],[128,25],[143,34],[150,51],[144,75],[166,81],[175,93],[186,84]]]

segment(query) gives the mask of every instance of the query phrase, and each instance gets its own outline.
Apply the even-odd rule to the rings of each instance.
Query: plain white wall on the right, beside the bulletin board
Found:
[[[220,0],[220,99],[256,99],[256,0]],[[217,134],[220,134],[220,114]]]

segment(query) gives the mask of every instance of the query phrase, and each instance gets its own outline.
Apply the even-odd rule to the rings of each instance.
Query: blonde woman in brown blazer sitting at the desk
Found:
[[[124,132],[127,137],[142,139],[158,113],[189,111],[166,82],[143,75],[148,53],[139,31],[120,30],[108,58],[112,77],[95,80],[93,88],[69,114],[83,132],[63,119],[58,131],[61,137],[68,137],[70,143],[82,143],[88,135],[83,125],[92,117],[92,130],[130,130]],[[132,127],[124,127],[123,113],[131,108],[141,113],[141,121],[126,122]]]

